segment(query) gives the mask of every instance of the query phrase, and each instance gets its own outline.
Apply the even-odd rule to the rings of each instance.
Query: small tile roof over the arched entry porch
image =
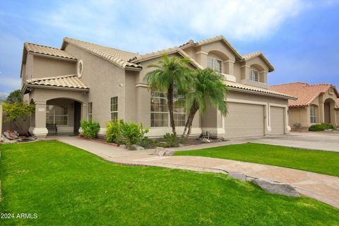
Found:
[[[25,83],[28,85],[47,85],[63,88],[89,89],[76,75],[32,78],[26,80]]]

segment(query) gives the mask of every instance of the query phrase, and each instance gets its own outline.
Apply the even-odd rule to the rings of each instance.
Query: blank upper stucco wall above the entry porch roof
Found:
[[[50,57],[33,57],[32,78],[65,76],[76,73],[76,62]]]

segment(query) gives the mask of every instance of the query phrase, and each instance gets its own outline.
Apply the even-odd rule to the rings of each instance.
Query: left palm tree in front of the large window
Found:
[[[173,115],[173,96],[174,93],[184,94],[189,90],[191,79],[191,69],[188,58],[168,57],[167,54],[162,56],[157,64],[150,64],[148,68],[154,68],[145,76],[150,90],[157,89],[167,92],[167,105],[169,110],[169,121],[172,132],[176,135],[174,115]]]

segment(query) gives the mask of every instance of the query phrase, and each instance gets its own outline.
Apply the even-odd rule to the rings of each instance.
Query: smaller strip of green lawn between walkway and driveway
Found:
[[[201,150],[179,151],[175,155],[218,157],[339,176],[339,153],[331,151],[303,150],[277,145],[244,143]]]

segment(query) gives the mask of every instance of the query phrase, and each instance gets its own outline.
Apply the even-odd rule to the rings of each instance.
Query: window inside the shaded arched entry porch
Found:
[[[57,124],[67,126],[67,106],[47,105],[46,124]]]

